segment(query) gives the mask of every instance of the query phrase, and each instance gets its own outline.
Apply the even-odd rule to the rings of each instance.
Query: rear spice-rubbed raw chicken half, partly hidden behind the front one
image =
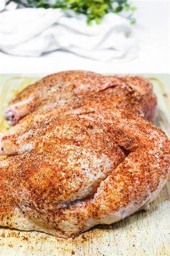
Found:
[[[29,127],[32,122],[91,102],[102,103],[105,108],[112,110],[135,111],[148,119],[153,119],[156,113],[152,85],[142,77],[70,71],[52,74],[28,86],[10,103],[5,116],[9,124],[15,125],[24,116],[31,114],[27,121],[24,119],[24,125]]]

